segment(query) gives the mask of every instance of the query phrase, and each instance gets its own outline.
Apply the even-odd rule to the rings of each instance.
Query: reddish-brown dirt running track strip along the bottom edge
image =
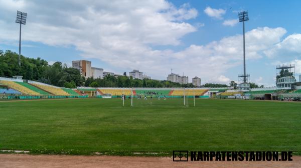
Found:
[[[173,162],[170,157],[0,154],[0,167],[301,167],[301,156],[292,159]]]

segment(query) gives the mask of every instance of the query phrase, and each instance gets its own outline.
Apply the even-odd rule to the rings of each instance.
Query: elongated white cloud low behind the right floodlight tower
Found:
[[[247,31],[246,58],[261,58],[262,52],[280,42],[285,32],[286,30],[281,27],[258,27]],[[225,75],[227,69],[242,63],[242,40],[242,35],[237,34],[206,45],[190,45],[182,51],[169,53],[172,56],[168,60],[169,65],[181,68],[180,71],[186,68],[185,71],[189,71],[192,76],[201,76],[207,81],[223,82],[221,75]]]

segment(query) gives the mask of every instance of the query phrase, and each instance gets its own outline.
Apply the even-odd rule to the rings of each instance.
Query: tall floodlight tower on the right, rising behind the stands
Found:
[[[243,22],[243,74],[238,75],[238,77],[242,78],[242,83],[239,84],[239,87],[242,91],[249,90],[250,84],[248,83],[249,74],[246,74],[246,51],[245,51],[245,30],[244,30],[244,22],[249,20],[248,12],[242,11],[238,13],[239,22]]]

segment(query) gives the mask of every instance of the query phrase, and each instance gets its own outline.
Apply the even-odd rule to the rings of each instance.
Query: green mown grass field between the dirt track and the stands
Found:
[[[301,151],[301,103],[84,98],[0,102],[0,148],[132,155],[173,150]],[[155,103],[156,102],[156,103]],[[162,103],[162,104],[160,104]]]

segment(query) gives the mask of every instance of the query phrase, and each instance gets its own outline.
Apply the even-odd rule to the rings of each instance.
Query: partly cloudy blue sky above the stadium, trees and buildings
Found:
[[[17,10],[28,12],[22,54],[50,63],[87,59],[122,74],[155,79],[173,72],[229,83],[243,72],[242,23],[247,10],[246,69],[274,85],[275,65],[301,73],[300,0],[0,0],[0,49],[18,51]]]

